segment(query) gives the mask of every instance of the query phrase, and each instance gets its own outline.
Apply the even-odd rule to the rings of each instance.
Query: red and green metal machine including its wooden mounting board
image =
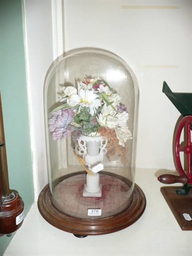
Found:
[[[163,174],[157,179],[164,184],[183,184],[162,187],[161,193],[182,230],[192,230],[192,93],[173,93],[166,82],[163,92],[182,115],[173,136],[173,157],[179,175]]]

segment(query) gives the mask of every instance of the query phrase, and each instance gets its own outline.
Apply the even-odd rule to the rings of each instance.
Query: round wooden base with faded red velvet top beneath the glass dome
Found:
[[[131,196],[126,198],[132,182],[112,173],[100,172],[100,198],[83,197],[85,175],[80,172],[62,177],[54,186],[54,196],[49,185],[40,193],[38,209],[54,227],[77,236],[109,234],[129,227],[145,211],[146,199],[140,187],[134,184]],[[102,216],[87,216],[90,208],[102,209]]]

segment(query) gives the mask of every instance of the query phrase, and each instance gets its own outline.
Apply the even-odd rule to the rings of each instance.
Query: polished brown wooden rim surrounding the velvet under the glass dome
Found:
[[[79,175],[79,173],[77,173]],[[71,176],[76,176],[74,173]],[[112,175],[117,177],[116,175]],[[67,177],[70,177],[68,175]],[[125,183],[130,183],[124,179]],[[52,204],[49,185],[45,186],[38,197],[38,209],[44,219],[56,228],[70,232],[77,237],[109,234],[129,227],[136,222],[145,211],[146,198],[138,185],[134,185],[132,200],[124,211],[106,218],[77,218],[57,209]]]

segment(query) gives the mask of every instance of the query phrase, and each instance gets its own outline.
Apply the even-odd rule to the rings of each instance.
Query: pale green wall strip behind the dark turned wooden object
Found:
[[[34,189],[22,5],[22,0],[0,0],[0,90],[10,188],[22,196],[26,215]],[[0,255],[12,237],[0,237]]]

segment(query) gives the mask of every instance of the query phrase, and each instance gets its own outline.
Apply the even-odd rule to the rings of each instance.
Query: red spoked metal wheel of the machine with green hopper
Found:
[[[192,184],[192,166],[191,166],[191,156],[192,156],[192,142],[191,142],[191,125],[192,124],[192,116],[185,116],[180,120],[179,125],[177,127],[177,131],[175,134],[175,164],[176,168],[180,174],[180,176],[186,175],[188,179],[188,184]],[[184,142],[185,145],[180,144],[180,136],[181,133],[186,127],[186,142]],[[184,171],[184,168],[182,167],[182,163],[180,160],[180,152],[184,152],[187,156],[187,173]]]

